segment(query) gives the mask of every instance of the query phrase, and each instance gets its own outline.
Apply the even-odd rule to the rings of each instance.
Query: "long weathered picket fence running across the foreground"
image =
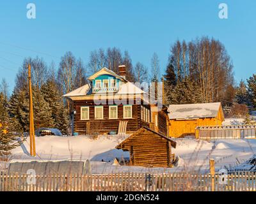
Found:
[[[222,176],[123,173],[33,177],[14,174],[0,175],[0,191],[256,191],[256,178],[252,172]]]

